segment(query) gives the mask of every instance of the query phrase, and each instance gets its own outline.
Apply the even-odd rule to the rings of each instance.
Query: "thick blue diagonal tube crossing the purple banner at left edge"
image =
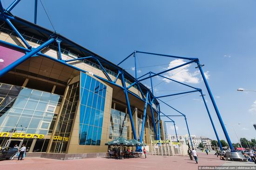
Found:
[[[37,52],[40,52],[43,48],[45,48],[46,46],[48,46],[49,44],[51,44],[54,41],[53,38],[49,39],[48,41],[46,41],[45,43],[43,43],[42,45],[38,46],[37,48],[31,50],[31,52],[28,52],[26,55],[24,55],[23,57],[21,57],[20,59],[17,59],[16,61],[14,61],[12,64],[8,65],[7,67],[3,68],[0,71],[0,77],[2,77],[4,74],[6,74],[7,72],[9,72],[10,70],[12,70],[13,68],[15,68],[16,66],[20,65],[22,62],[24,62],[26,59],[29,59],[31,56],[33,56],[34,54],[36,54]]]

